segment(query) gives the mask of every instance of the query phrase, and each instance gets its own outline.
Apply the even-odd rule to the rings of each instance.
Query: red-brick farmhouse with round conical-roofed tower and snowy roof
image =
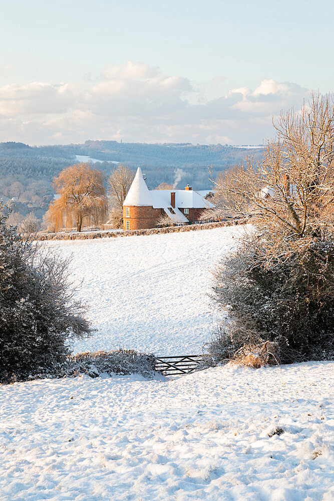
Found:
[[[194,223],[203,210],[213,206],[189,185],[184,190],[149,190],[138,167],[123,203],[124,229],[155,228],[165,214],[181,224]]]

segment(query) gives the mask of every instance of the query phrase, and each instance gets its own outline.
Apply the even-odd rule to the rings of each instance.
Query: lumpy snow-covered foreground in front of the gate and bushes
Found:
[[[332,501],[333,369],[0,386],[0,499]]]

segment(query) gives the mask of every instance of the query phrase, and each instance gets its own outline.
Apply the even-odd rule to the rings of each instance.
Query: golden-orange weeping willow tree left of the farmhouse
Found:
[[[64,224],[67,228],[76,224],[81,231],[84,218],[104,222],[108,207],[104,182],[104,174],[87,163],[71,165],[54,178],[59,198],[51,202],[49,218],[56,231]]]

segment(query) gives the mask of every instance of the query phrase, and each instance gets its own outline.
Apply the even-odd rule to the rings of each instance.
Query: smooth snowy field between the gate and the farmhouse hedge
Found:
[[[74,351],[120,345],[158,355],[201,353],[210,336],[210,270],[241,226],[97,240],[52,241],[84,284],[93,337]],[[232,236],[234,238],[232,238]]]

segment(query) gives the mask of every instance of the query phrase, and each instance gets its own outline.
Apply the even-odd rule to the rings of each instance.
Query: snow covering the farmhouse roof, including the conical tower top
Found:
[[[190,208],[214,207],[214,205],[205,200],[201,195],[193,190],[181,189],[159,189],[149,190],[143,178],[140,167],[137,169],[136,176],[131,184],[129,192],[124,200],[124,206],[153,206],[155,209],[166,209],[171,206],[170,194],[175,192],[175,206]],[[180,211],[179,211],[180,212]],[[180,212],[181,214],[181,212]]]

